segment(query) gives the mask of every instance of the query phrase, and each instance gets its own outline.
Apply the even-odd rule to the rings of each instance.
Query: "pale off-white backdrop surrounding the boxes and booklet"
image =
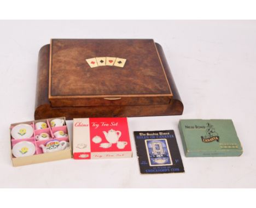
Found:
[[[0,187],[256,187],[256,21],[0,21],[0,28]],[[183,115],[129,118],[129,159],[12,167],[9,125],[33,120],[38,51],[50,38],[154,39]],[[178,121],[192,118],[232,119],[243,155],[186,158]],[[68,127],[72,132],[72,121]],[[133,131],[168,129],[176,133],[185,173],[141,175]]]

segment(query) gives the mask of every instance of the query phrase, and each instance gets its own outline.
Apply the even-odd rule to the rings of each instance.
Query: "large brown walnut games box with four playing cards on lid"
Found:
[[[36,119],[182,112],[164,52],[152,39],[52,39],[39,51]]]

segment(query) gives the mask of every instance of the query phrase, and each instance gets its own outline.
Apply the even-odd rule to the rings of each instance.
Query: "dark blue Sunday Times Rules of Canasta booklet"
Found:
[[[133,133],[142,174],[184,172],[173,130]]]

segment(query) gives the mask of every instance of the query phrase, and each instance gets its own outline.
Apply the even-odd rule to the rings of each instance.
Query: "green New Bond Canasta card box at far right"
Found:
[[[230,157],[243,149],[232,120],[179,120],[186,157]]]

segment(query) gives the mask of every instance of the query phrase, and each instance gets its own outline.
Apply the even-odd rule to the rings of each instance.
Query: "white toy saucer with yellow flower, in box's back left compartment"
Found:
[[[34,133],[33,127],[29,124],[19,124],[11,129],[11,136],[14,139],[30,138]]]

